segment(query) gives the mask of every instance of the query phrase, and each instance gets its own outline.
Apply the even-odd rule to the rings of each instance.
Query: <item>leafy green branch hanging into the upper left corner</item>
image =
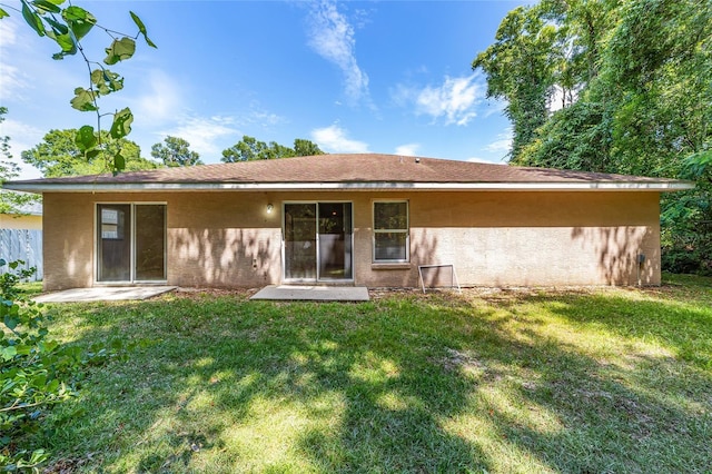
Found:
[[[21,0],[21,10],[0,4],[0,19],[9,17],[8,10],[21,13],[28,26],[39,37],[49,38],[60,48],[60,51],[55,53],[52,59],[61,60],[78,52],[81,55],[89,71],[88,87],[76,88],[75,97],[70,103],[79,111],[95,112],[97,128],[95,130],[92,126],[88,125],[79,128],[75,141],[87,160],[92,161],[101,155],[105,157],[107,166],[113,172],[118,172],[126,167],[125,157],[120,154],[111,154],[112,150],[105,146],[107,134],[102,132],[101,119],[107,116],[112,117],[108,136],[119,140],[131,131],[134,115],[128,107],[115,113],[100,112],[99,99],[123,88],[123,78],[106,68],[105,65],[113,66],[131,58],[136,51],[136,39],[139,36],[144,37],[148,46],[156,48],[156,45],[148,38],[146,26],[141,19],[132,11],[129,13],[138,29],[134,37],[100,26],[97,18],[81,7],[71,3],[65,8],[60,7],[63,3],[65,0]],[[105,50],[107,56],[103,63],[90,60],[82,45],[82,40],[93,28],[102,30],[111,38],[111,43]]]

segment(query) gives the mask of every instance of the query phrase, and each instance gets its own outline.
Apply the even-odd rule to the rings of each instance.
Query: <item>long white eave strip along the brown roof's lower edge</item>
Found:
[[[4,189],[26,192],[155,192],[155,191],[290,191],[290,190],[442,190],[442,191],[681,191],[692,181],[575,181],[575,182],[6,182]]]

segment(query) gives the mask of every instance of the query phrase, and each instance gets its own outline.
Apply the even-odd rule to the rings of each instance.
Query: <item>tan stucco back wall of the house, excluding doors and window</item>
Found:
[[[372,264],[372,203],[380,198],[409,201],[409,265]],[[660,284],[656,192],[235,191],[47,194],[44,286],[91,286],[95,204],[132,201],[167,204],[169,284],[280,283],[281,204],[301,200],[354,204],[357,285],[417,286],[426,264],[454,264],[462,285],[633,285],[639,253],[642,283]]]

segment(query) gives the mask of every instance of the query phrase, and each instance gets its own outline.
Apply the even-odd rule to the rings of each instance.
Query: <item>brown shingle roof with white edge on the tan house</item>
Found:
[[[640,176],[609,175],[547,168],[525,168],[505,165],[456,161],[435,158],[416,158],[397,155],[356,154],[320,155],[275,160],[244,161],[180,168],[161,168],[148,171],[122,172],[117,176],[95,175],[65,178],[46,178],[7,182],[8,189],[62,190],[88,185],[98,188],[117,187],[138,190],[141,186],[152,189],[165,185],[369,185],[394,188],[398,185],[601,185],[627,184],[632,187],[689,188],[691,184],[675,179]],[[164,186],[161,186],[164,185]],[[201,186],[197,186],[200,188]]]

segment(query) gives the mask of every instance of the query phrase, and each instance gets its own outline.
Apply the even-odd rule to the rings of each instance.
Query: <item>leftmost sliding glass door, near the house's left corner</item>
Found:
[[[97,205],[97,280],[166,280],[166,205]]]

